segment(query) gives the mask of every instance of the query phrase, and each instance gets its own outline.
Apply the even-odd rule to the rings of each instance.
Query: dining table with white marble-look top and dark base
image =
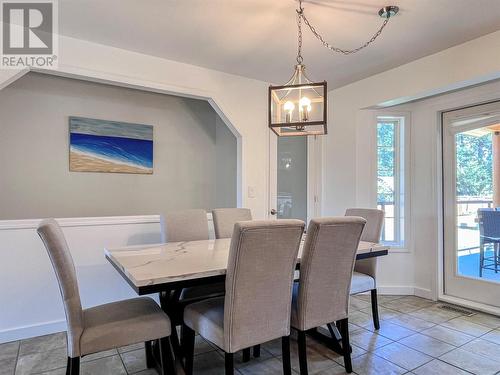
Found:
[[[297,257],[300,269],[304,240]],[[138,295],[158,293],[161,308],[172,320],[172,346],[176,360],[182,363],[184,356],[175,326],[182,324],[184,288],[209,286],[223,283],[229,259],[231,239],[169,242],[162,244],[135,245],[105,248],[104,255],[123,279]],[[387,255],[389,246],[360,241],[356,259],[368,259]],[[308,332],[331,350],[342,353],[340,334],[335,325]]]

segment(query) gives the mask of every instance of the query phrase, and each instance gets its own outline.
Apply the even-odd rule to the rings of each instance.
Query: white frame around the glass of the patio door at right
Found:
[[[439,299],[494,314],[500,313],[500,307],[488,305],[479,301],[473,301],[464,295],[462,295],[462,297],[457,296],[457,292],[455,292],[455,295],[447,294],[446,284],[453,282],[455,283],[455,290],[457,288],[470,290],[470,292],[468,292],[469,298],[471,293],[475,294],[474,290],[479,292],[479,289],[483,288],[484,285],[494,284],[500,286],[494,281],[478,280],[478,278],[458,275],[457,273],[455,191],[456,148],[454,140],[457,133],[498,124],[498,117],[500,116],[500,109],[498,109],[499,104],[499,101],[495,101],[440,112],[442,251],[439,259]],[[467,123],[466,120],[470,117],[478,116],[484,112],[490,112],[489,116],[485,116],[484,118],[474,121],[473,123]],[[495,118],[496,120],[493,120]],[[460,121],[461,119],[464,120],[463,124],[460,124],[455,128],[449,127],[449,124],[452,121]],[[451,164],[452,168],[446,168],[446,164]],[[453,265],[450,267],[451,263]],[[452,272],[452,276],[449,275],[450,272]],[[467,283],[467,285],[465,285],[465,283]],[[453,293],[453,291],[451,293]]]

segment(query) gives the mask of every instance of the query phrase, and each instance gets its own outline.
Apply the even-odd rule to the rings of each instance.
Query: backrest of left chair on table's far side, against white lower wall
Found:
[[[183,210],[161,215],[162,242],[208,240],[208,220],[205,210]]]

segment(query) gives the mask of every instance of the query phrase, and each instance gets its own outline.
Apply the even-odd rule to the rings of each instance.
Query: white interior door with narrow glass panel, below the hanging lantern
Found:
[[[270,135],[269,217],[300,219],[319,215],[321,139]]]

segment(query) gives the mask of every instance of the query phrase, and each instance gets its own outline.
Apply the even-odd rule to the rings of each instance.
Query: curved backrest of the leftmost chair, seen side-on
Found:
[[[68,356],[80,356],[80,337],[84,329],[82,304],[73,258],[59,224],[54,219],[43,220],[37,229],[57,276],[68,325]],[[36,308],[36,307],[35,307]]]

